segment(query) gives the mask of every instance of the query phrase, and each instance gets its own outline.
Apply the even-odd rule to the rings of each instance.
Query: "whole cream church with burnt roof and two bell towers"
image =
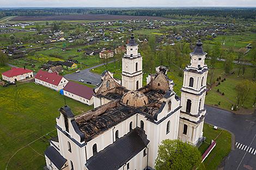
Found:
[[[69,106],[59,109],[58,136],[45,150],[45,169],[154,169],[162,140],[198,146],[204,138],[208,74],[202,45],[199,40],[190,54],[179,97],[164,66],[156,67],[143,86],[143,58],[132,34],[122,58],[121,80],[109,71],[102,73],[94,88],[94,109],[78,116]]]

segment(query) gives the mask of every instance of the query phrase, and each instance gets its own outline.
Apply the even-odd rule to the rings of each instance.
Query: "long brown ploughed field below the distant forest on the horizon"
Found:
[[[53,16],[17,16],[10,21],[101,21],[101,20],[168,20],[168,18],[157,16],[130,16],[130,15],[53,15]]]

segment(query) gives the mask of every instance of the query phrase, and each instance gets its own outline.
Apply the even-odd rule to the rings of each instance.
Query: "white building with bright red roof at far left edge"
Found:
[[[31,77],[33,77],[33,71],[28,70],[25,67],[13,67],[11,70],[2,73],[2,79],[9,82],[20,81]]]

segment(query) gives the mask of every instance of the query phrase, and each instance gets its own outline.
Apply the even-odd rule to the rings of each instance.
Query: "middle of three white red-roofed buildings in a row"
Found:
[[[39,70],[35,75],[35,84],[40,84],[56,91],[63,89],[68,82],[68,80],[57,73]]]

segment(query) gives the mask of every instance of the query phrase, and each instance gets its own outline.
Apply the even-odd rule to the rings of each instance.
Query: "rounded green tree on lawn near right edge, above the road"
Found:
[[[243,107],[243,104],[248,98],[248,95],[252,89],[252,83],[249,80],[243,80],[239,84],[236,85],[236,105]]]

